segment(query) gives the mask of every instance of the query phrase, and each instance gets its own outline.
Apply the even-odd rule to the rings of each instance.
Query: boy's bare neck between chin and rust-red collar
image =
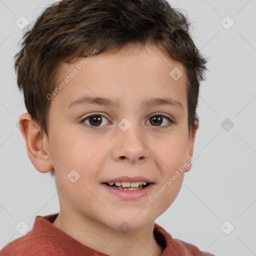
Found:
[[[75,240],[111,256],[160,256],[163,248],[156,242],[154,221],[138,230],[123,232],[84,215],[60,210],[53,225]]]

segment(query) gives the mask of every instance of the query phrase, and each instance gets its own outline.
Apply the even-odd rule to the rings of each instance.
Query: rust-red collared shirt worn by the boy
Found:
[[[33,228],[25,235],[9,242],[0,256],[109,256],[78,242],[70,235],[52,225],[56,214],[36,216]],[[154,236],[164,248],[161,256],[214,256],[200,251],[196,246],[173,239],[162,227],[154,224]]]

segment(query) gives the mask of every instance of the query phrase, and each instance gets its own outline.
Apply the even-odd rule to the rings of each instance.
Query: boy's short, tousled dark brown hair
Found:
[[[15,55],[17,85],[28,113],[48,136],[46,95],[56,87],[61,61],[70,63],[95,48],[99,54],[150,41],[185,68],[190,131],[198,121],[199,82],[207,60],[194,45],[189,25],[167,0],[61,0],[49,5],[27,28]]]

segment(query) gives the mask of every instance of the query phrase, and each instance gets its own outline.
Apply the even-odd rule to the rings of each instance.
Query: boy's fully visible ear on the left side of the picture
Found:
[[[26,143],[26,151],[34,167],[40,172],[48,172],[53,166],[48,151],[48,138],[39,125],[32,120],[28,113],[19,117],[19,127]]]

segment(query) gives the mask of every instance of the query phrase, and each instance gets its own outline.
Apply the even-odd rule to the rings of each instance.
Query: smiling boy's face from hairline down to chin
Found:
[[[146,50],[130,46],[114,55],[96,55],[79,70],[81,60],[84,58],[61,68],[60,82],[76,73],[74,68],[78,73],[52,98],[49,137],[43,138],[57,188],[62,187],[60,212],[116,229],[123,221],[131,228],[145,226],[173,202],[184,173],[179,171],[181,174],[159,196],[154,194],[192,156],[196,128],[188,133],[184,68],[152,44]],[[177,80],[169,75],[174,67],[183,72]],[[119,106],[71,104],[83,96],[118,100]],[[172,98],[182,108],[167,104],[141,106],[156,97]],[[89,114],[97,114],[98,119],[80,123]],[[73,169],[79,173],[78,179],[75,171],[69,174]],[[77,180],[71,182],[67,178],[70,175],[74,176],[71,180]],[[142,176],[137,181],[146,178],[154,184],[143,196],[124,199],[110,192],[117,188],[103,185],[120,176]]]

